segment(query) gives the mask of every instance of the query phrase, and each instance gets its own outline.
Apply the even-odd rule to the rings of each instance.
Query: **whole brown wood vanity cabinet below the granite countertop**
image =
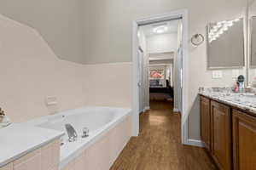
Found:
[[[201,140],[218,168],[256,170],[256,116],[204,96],[200,107]]]

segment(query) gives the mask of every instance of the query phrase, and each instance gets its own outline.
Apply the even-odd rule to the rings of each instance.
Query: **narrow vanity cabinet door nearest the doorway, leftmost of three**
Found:
[[[211,112],[210,99],[201,96],[201,140],[211,152]]]

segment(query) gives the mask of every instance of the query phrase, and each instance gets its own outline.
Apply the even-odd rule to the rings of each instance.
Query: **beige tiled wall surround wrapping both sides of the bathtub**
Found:
[[[58,59],[31,27],[0,15],[0,107],[13,122],[83,105],[131,107],[131,63],[79,65]],[[123,80],[122,77],[125,77]]]

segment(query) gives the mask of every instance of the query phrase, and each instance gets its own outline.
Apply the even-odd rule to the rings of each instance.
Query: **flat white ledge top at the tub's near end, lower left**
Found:
[[[13,123],[0,129],[0,167],[61,138],[63,134],[42,127],[28,126],[26,122]]]

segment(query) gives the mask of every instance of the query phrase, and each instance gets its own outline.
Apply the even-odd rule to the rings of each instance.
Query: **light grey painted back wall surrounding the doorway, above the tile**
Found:
[[[86,57],[86,63],[131,61],[132,20],[187,8],[189,37],[192,37],[195,33],[205,35],[208,22],[240,16],[245,6],[244,0],[86,1],[84,2],[84,36],[86,37],[84,54],[90,56]],[[207,71],[205,42],[197,48],[189,44],[189,59],[186,66],[189,74],[185,94],[189,111],[189,138],[200,139],[199,102],[196,99],[198,88],[230,86],[235,81],[231,77],[231,71],[224,71],[222,79],[212,80],[212,71]]]

